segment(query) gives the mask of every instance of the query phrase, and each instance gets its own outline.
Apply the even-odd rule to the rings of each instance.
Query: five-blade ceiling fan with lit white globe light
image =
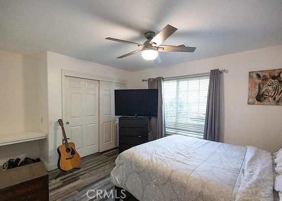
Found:
[[[135,50],[132,52],[129,52],[127,54],[121,55],[117,57],[118,59],[124,58],[126,56],[130,56],[133,54],[136,54],[138,52],[141,52],[142,57],[145,60],[154,60],[158,56],[158,51],[170,51],[170,52],[194,52],[196,48],[193,47],[183,47],[183,46],[166,46],[162,45],[164,41],[171,35],[173,34],[177,28],[171,26],[171,25],[166,25],[157,35],[154,31],[147,31],[145,32],[145,37],[147,38],[147,41],[144,42],[144,44],[139,44],[139,43],[134,43],[130,41],[124,41],[116,38],[105,38],[106,40],[111,40],[111,41],[117,41],[120,43],[126,43],[134,46],[141,47],[141,50]],[[160,63],[160,59],[157,61],[155,60],[156,63]]]

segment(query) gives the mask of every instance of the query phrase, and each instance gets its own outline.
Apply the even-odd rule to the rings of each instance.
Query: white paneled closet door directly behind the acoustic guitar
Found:
[[[65,77],[64,126],[81,157],[99,151],[99,81]]]

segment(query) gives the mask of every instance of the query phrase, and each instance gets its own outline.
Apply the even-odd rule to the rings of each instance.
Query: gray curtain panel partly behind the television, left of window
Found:
[[[165,137],[165,123],[164,123],[164,98],[163,98],[163,77],[149,78],[148,89],[159,90],[158,100],[158,117],[151,117],[150,119],[150,135],[149,140],[156,140]]]

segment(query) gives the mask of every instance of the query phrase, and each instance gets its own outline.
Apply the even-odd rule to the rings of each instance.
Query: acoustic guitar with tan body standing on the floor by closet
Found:
[[[64,144],[59,146],[57,151],[59,153],[58,168],[61,171],[68,171],[75,168],[80,164],[80,155],[75,150],[75,145],[73,142],[68,142],[66,136],[63,120],[58,120],[59,125],[62,128],[64,136]]]

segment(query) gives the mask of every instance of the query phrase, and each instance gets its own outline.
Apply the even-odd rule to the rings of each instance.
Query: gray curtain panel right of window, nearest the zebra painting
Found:
[[[219,140],[219,70],[211,70],[204,139]]]

